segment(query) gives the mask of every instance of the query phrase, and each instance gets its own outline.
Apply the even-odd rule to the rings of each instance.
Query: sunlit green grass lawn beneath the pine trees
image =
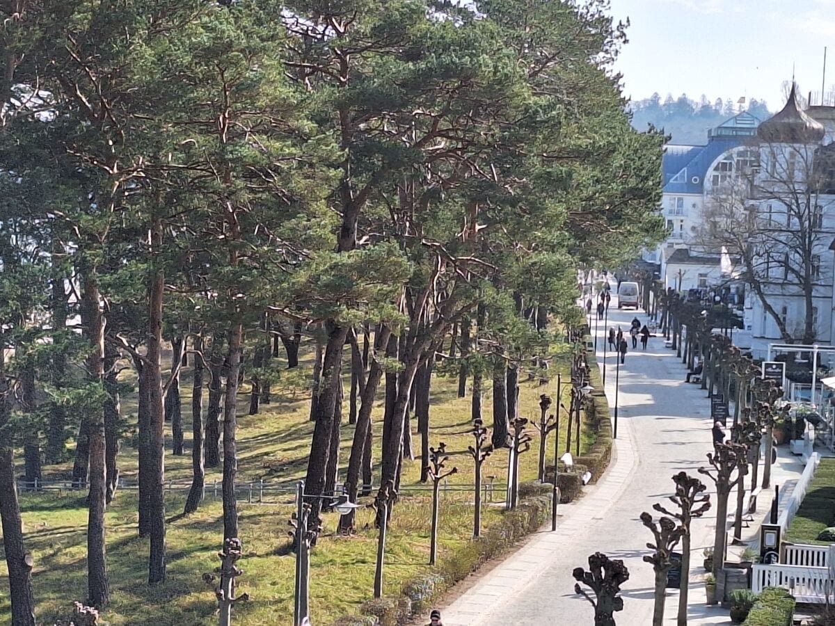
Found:
[[[302,373],[309,364],[302,364]],[[293,482],[306,471],[313,425],[308,421],[309,400],[301,381],[295,376],[283,383],[271,404],[262,406],[256,416],[245,415],[248,396],[242,394],[239,404],[240,454],[239,480],[263,478],[271,483],[282,482],[286,494],[269,493],[263,503],[240,502],[240,538],[244,558],[240,567],[240,591],[251,595],[251,602],[235,609],[235,624],[287,624],[292,619],[293,576],[295,560],[287,553],[287,520],[293,506]],[[190,480],[190,371],[182,380],[185,456],[170,454],[170,432],[166,447],[166,479]],[[486,385],[489,389],[490,385]],[[555,393],[555,383],[538,386],[537,381],[524,381],[520,393],[520,413],[532,419],[539,416],[539,394]],[[274,387],[275,389],[275,387]],[[472,442],[470,398],[458,398],[457,381],[436,378],[432,394],[431,442],[446,442],[449,451],[463,451]],[[382,391],[382,390],[381,390]],[[382,393],[381,393],[382,395]],[[567,400],[565,400],[567,403]],[[123,411],[135,412],[135,398],[123,401]],[[484,402],[485,422],[490,422],[490,397]],[[347,418],[347,403],[343,414]],[[382,406],[375,410],[374,458],[379,459]],[[129,421],[135,423],[135,417]],[[565,438],[563,419],[561,441]],[[412,432],[415,424],[412,421]],[[342,427],[342,471],[347,463],[353,427]],[[536,433],[533,433],[536,436]],[[521,457],[523,480],[536,477],[538,439],[530,452]],[[582,449],[590,442],[585,439]],[[419,438],[414,433],[415,452],[419,454]],[[572,445],[572,447],[574,447]],[[553,450],[553,442],[549,446]],[[549,452],[549,457],[551,453]],[[136,450],[123,446],[119,457],[122,476],[135,480]],[[402,487],[418,487],[419,462],[404,462]],[[507,452],[497,452],[488,459],[484,476],[496,476],[504,482]],[[458,467],[458,474],[449,477],[449,485],[471,485],[473,462],[468,456],[453,457],[448,467]],[[835,468],[835,466],[833,466]],[[377,468],[378,469],[378,468]],[[45,468],[44,478],[66,476],[67,464]],[[819,471],[820,472],[820,471]],[[220,563],[216,554],[223,535],[220,500],[212,497],[213,481],[220,482],[220,468],[207,472],[208,493],[200,510],[181,516],[185,492],[173,490],[166,496],[168,514],[167,549],[168,579],[149,588],[147,580],[148,543],[136,535],[136,492],[118,492],[107,512],[108,568],[112,595],[111,607],[104,612],[110,626],[200,626],[216,623],[215,598],[212,589],[201,580]],[[338,481],[337,481],[338,482]],[[832,480],[829,481],[832,484]],[[428,571],[430,492],[408,491],[394,509],[387,538],[385,593],[398,593],[402,583],[417,573]],[[497,499],[502,496],[497,495]],[[366,498],[363,503],[370,502]],[[66,616],[74,600],[86,595],[85,525],[87,511],[78,493],[29,495],[21,497],[23,524],[28,549],[33,553],[34,593],[38,619],[51,624],[52,619]],[[440,555],[467,542],[472,533],[472,493],[449,492],[442,496],[440,524]],[[502,512],[488,507],[483,524],[495,523]],[[352,612],[359,603],[372,597],[377,532],[372,528],[372,511],[360,509],[357,534],[340,537],[333,534],[336,513],[326,513],[323,536],[311,554],[311,618],[319,626],[339,615]],[[10,623],[8,617],[8,578],[5,562],[0,562],[0,624]]]

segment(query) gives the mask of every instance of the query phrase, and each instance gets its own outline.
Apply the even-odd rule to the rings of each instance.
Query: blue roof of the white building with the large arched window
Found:
[[[711,130],[706,145],[667,145],[662,161],[664,193],[701,194],[711,164],[727,150],[750,141],[758,125],[757,118],[743,112]]]

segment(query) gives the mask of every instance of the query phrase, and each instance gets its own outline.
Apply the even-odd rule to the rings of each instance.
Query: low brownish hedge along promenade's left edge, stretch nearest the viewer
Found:
[[[519,485],[522,501],[513,511],[504,513],[501,523],[488,528],[482,537],[444,554],[435,571],[408,580],[399,596],[368,600],[360,605],[359,615],[339,618],[333,626],[401,626],[408,623],[453,584],[467,578],[483,563],[506,553],[519,539],[538,531],[551,516],[550,491],[551,486],[546,484]]]

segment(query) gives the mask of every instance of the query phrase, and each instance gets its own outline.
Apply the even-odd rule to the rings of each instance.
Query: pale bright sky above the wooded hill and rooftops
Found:
[[[615,69],[634,99],[744,96],[777,111],[793,66],[801,93],[819,104],[825,46],[826,92],[835,92],[835,0],[611,0],[611,13],[630,18]]]

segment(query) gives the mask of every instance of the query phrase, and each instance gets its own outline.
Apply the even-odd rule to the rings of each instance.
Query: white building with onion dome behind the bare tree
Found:
[[[757,130],[759,166],[746,205],[757,215],[751,250],[766,302],[747,290],[744,323],[754,356],[783,340],[775,315],[798,343],[831,344],[835,336],[833,139],[835,107],[802,111],[794,89],[782,111]],[[804,337],[807,312],[813,331]]]

